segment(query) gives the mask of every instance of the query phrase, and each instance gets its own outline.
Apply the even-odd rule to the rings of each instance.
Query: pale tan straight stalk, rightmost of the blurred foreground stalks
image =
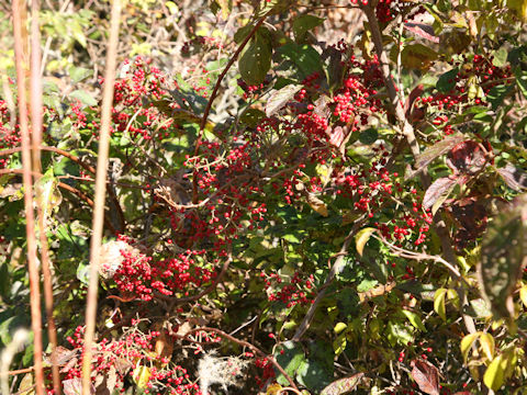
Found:
[[[90,283],[86,306],[85,358],[82,360],[82,394],[90,394],[92,342],[96,332],[97,293],[99,284],[99,263],[101,239],[104,221],[104,203],[106,190],[108,155],[110,147],[110,124],[112,121],[112,102],[115,81],[116,53],[119,42],[119,24],[121,21],[121,0],[114,0],[110,20],[110,38],[104,74],[104,90],[101,109],[101,129],[97,158],[96,203],[90,248]]]

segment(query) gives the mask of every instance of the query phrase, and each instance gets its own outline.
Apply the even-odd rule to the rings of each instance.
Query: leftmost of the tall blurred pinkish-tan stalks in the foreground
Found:
[[[22,137],[22,179],[24,183],[24,207],[25,207],[25,232],[27,237],[27,264],[30,273],[30,301],[31,301],[31,327],[33,330],[33,360],[35,366],[36,394],[44,394],[44,370],[42,363],[42,313],[40,273],[36,262],[36,238],[35,218],[33,211],[33,178],[31,166],[31,137],[27,122],[27,101],[25,91],[25,65],[22,42],[22,29],[25,20],[22,19],[21,0],[14,0],[13,10],[13,33],[14,33],[14,56],[16,63],[16,87],[19,93],[20,132]]]

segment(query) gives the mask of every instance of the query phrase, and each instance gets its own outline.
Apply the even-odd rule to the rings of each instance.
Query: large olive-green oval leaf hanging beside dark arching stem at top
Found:
[[[264,82],[271,67],[272,46],[267,36],[258,30],[246,45],[238,60],[242,78],[248,84]]]

